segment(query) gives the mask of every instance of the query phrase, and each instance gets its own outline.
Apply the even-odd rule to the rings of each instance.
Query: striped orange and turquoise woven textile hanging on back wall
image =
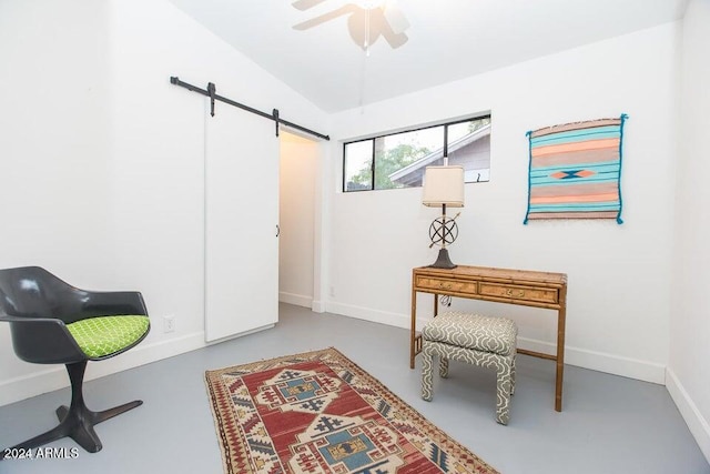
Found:
[[[621,224],[623,122],[599,119],[527,132],[528,210],[538,219],[616,219]]]

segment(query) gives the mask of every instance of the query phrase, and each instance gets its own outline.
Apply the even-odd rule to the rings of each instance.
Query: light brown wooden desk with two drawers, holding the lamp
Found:
[[[416,331],[417,292],[434,294],[434,315],[438,313],[438,295],[557,310],[557,354],[518,349],[519,354],[557,362],[555,410],[562,411],[565,371],[565,313],[567,311],[567,275],[527,270],[491,269],[459,265],[453,270],[422,266],[412,271],[412,334],[409,367],[422,352],[422,334]]]

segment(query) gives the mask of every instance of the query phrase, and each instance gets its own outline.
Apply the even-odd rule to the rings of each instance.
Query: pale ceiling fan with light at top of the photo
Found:
[[[305,11],[326,0],[295,0],[292,7]],[[369,53],[369,47],[383,37],[393,49],[399,48],[409,38],[405,30],[409,28],[406,17],[394,0],[353,0],[341,8],[295,24],[294,30],[308,30],[318,24],[347,16],[347,29],[355,44]]]

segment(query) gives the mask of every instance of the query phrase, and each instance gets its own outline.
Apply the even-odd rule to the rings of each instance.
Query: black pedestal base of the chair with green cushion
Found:
[[[94,432],[93,426],[143,404],[142,401],[136,400],[113,409],[92,412],[84,404],[82,393],[85,369],[87,361],[67,364],[67,372],[69,372],[69,379],[71,380],[71,405],[69,407],[62,405],[57,409],[57,417],[60,421],[59,425],[47,433],[19,443],[10,450],[31,450],[69,436],[88,452],[99,452],[103,445]]]

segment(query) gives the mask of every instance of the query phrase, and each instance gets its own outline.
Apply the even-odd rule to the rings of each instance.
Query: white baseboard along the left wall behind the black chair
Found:
[[[152,344],[141,344],[119,357],[91,363],[87,367],[85,380],[93,380],[104,375],[138,367],[173,355],[183,354],[204,347],[204,332],[186,334],[184,336],[159,341]],[[39,365],[32,364],[36,367]],[[0,406],[19,402],[31,396],[69,386],[69,377],[63,365],[52,365],[51,369],[33,372],[28,375],[10,379],[0,383]]]

